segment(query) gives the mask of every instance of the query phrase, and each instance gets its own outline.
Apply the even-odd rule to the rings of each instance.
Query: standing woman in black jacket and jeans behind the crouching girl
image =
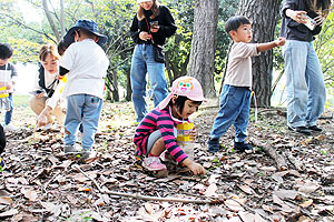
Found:
[[[164,46],[171,37],[176,26],[170,11],[159,6],[158,0],[137,0],[138,11],[132,20],[130,34],[136,43],[131,62],[132,101],[136,121],[140,122],[147,113],[146,73],[153,90],[154,104],[157,107],[168,94],[164,61],[156,61],[155,46]]]

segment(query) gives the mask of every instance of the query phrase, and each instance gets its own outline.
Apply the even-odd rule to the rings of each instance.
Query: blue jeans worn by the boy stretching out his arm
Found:
[[[245,87],[223,85],[219,111],[215,119],[210,139],[219,139],[234,124],[235,142],[244,142],[247,138],[252,91]]]

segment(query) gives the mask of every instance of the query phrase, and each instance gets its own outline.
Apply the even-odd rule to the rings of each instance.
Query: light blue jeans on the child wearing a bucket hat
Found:
[[[82,149],[91,149],[95,133],[98,129],[102,103],[102,99],[90,94],[73,94],[67,97],[63,138],[66,145],[76,143],[76,134],[81,123],[84,127]]]

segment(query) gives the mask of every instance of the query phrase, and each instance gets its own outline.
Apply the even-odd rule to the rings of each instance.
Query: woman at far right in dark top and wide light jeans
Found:
[[[307,135],[322,131],[316,121],[324,111],[326,89],[313,40],[330,8],[331,0],[286,0],[282,8],[281,37],[287,40],[283,48],[287,125]]]

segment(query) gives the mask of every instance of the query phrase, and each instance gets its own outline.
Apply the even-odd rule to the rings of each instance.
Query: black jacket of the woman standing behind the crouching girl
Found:
[[[169,9],[165,6],[160,6],[159,10],[160,13],[154,19],[149,18],[153,14],[153,12],[150,10],[148,11],[145,10],[144,13],[147,19],[147,22],[146,19],[139,21],[137,19],[137,14],[135,16],[130,28],[130,36],[136,44],[151,43],[151,41],[144,41],[139,39],[140,31],[149,32],[147,23],[149,26],[150,21],[158,21],[158,24],[160,27],[158,32],[151,33],[156,44],[160,44],[160,46],[165,44],[166,38],[171,37],[175,33],[176,26]]]

